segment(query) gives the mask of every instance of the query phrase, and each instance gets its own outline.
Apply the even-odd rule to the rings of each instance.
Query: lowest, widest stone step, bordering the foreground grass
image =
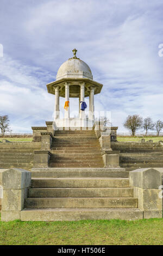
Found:
[[[140,220],[137,208],[48,208],[23,209],[21,221]]]

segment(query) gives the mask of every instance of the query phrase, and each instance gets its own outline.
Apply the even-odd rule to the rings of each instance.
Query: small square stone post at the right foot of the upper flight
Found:
[[[120,151],[103,150],[104,167],[118,168],[120,167]]]

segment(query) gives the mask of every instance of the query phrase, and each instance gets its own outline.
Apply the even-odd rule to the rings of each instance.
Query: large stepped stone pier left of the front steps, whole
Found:
[[[24,208],[28,196],[31,173],[28,170],[11,168],[2,173],[2,211],[1,221],[21,219],[21,210]]]

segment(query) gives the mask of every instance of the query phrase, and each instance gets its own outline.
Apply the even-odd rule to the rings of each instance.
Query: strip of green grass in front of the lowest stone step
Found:
[[[0,222],[0,245],[162,245],[163,218]]]

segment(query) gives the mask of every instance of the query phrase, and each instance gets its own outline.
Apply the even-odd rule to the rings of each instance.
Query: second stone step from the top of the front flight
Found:
[[[129,187],[128,178],[32,178],[32,187]]]

